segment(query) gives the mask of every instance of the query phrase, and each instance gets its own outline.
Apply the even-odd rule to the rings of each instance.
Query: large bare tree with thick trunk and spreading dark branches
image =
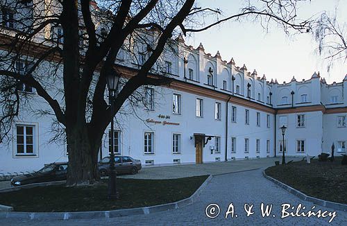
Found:
[[[136,102],[140,87],[171,82],[160,62],[164,52],[177,50],[173,37],[178,33],[242,18],[262,26],[275,21],[286,32],[309,29],[310,21],[296,17],[296,0],[252,2],[245,1],[243,7],[230,3],[240,11],[223,17],[220,10],[200,8],[194,0],[1,0],[1,137],[8,135],[23,103],[36,92],[66,131],[67,185],[93,183],[98,180],[103,132],[121,106],[127,100]],[[213,15],[212,24],[201,22]],[[133,69],[122,66],[124,53]],[[105,100],[109,73],[125,78],[115,114]]]

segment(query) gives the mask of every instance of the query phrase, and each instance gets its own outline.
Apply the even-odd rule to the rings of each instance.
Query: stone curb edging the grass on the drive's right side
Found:
[[[292,188],[291,186],[288,186],[287,184],[284,184],[284,183],[274,179],[273,177],[266,175],[265,171],[262,171],[262,174],[264,175],[264,177],[267,180],[270,180],[271,182],[277,184],[278,186],[282,187],[282,189],[285,189],[289,193],[296,195],[298,198],[301,198],[301,200],[304,200],[307,202],[313,202],[314,204],[320,205],[322,207],[328,207],[328,208],[335,209],[335,210],[347,211],[347,205],[344,205],[344,204],[341,204],[338,202],[325,201],[325,200],[321,200],[319,198],[314,198],[312,196],[305,195],[305,193],[302,193],[301,191],[298,191],[298,190]]]

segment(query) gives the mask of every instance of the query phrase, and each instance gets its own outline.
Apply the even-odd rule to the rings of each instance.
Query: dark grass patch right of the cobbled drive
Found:
[[[335,162],[292,162],[266,168],[265,173],[306,195],[347,204],[347,166],[341,165],[341,160],[335,157]]]

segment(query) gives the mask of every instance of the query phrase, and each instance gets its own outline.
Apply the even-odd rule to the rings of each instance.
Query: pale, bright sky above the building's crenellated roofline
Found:
[[[225,16],[239,12],[242,3],[244,0],[198,0],[199,6],[220,8]],[[307,18],[324,11],[329,15],[336,13],[339,24],[347,28],[346,10],[347,0],[312,0],[301,3],[297,15]],[[195,48],[200,42],[206,53],[215,55],[219,51],[222,60],[229,62],[234,58],[236,66],[246,64],[248,71],[255,69],[258,76],[265,74],[267,80],[277,78],[280,83],[290,82],[293,76],[298,81],[308,80],[314,71],[320,71],[321,77],[330,84],[341,82],[347,74],[347,62],[343,60],[335,61],[328,72],[327,60],[317,53],[318,44],[312,35],[286,35],[275,24],[270,24],[266,32],[256,22],[227,21],[186,37],[186,43]]]

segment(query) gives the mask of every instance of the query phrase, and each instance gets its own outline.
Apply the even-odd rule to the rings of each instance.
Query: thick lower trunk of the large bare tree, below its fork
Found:
[[[67,128],[69,165],[67,186],[94,184],[99,181],[98,152],[99,141],[88,137],[86,125]]]

